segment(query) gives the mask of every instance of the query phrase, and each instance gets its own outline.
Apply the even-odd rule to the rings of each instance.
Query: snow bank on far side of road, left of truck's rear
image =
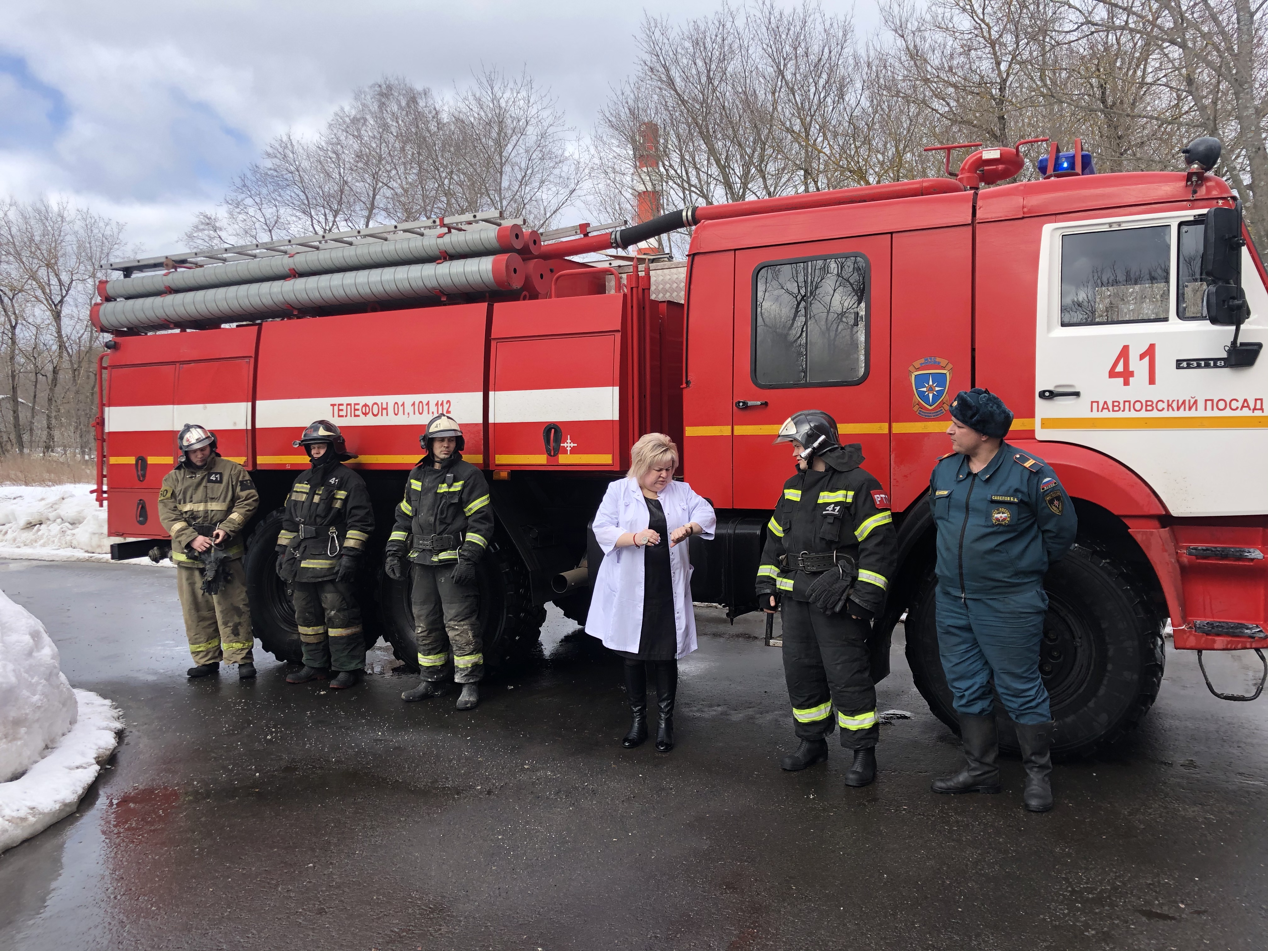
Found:
[[[105,508],[94,486],[0,486],[0,555],[30,557],[30,549],[53,557],[110,554]],[[22,549],[16,552],[14,549]]]

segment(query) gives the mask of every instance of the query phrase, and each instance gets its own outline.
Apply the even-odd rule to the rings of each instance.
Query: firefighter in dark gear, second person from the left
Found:
[[[289,582],[304,666],[287,676],[306,683],[335,668],[335,690],[360,682],[365,670],[365,635],[356,604],[355,578],[374,533],[374,508],[365,479],[344,463],[355,456],[344,435],[317,420],[294,441],[312,468],[299,473],[281,516],[278,574]]]

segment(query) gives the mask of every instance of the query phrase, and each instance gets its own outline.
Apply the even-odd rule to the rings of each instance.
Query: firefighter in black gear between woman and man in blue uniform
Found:
[[[798,472],[767,524],[757,569],[765,611],[782,602],[784,676],[801,741],[780,765],[804,770],[828,758],[827,737],[841,727],[853,751],[846,785],[876,777],[876,686],[869,639],[885,606],[898,543],[889,497],[865,469],[858,444],[841,445],[828,413],[805,410],[780,427]]]

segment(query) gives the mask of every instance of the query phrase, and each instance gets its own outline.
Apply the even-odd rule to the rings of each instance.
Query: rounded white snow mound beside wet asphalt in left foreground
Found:
[[[67,683],[44,625],[0,592],[0,852],[75,812],[120,729],[109,700]]]

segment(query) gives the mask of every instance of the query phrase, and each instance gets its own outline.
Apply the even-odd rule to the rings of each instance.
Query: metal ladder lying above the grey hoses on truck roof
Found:
[[[375,241],[399,241],[402,238],[439,235],[441,231],[469,231],[472,228],[498,228],[503,224],[524,226],[524,218],[503,218],[502,212],[472,212],[453,218],[427,218],[425,221],[399,222],[397,224],[378,224],[355,231],[327,231],[321,235],[259,241],[254,245],[235,247],[212,247],[205,251],[183,251],[181,254],[158,255],[156,257],[137,257],[131,261],[110,261],[103,265],[107,270],[123,271],[132,276],[136,271],[171,270],[172,268],[202,268],[204,265],[228,264],[231,261],[252,261],[276,255],[302,254],[304,251],[323,251],[330,247],[364,245]]]

